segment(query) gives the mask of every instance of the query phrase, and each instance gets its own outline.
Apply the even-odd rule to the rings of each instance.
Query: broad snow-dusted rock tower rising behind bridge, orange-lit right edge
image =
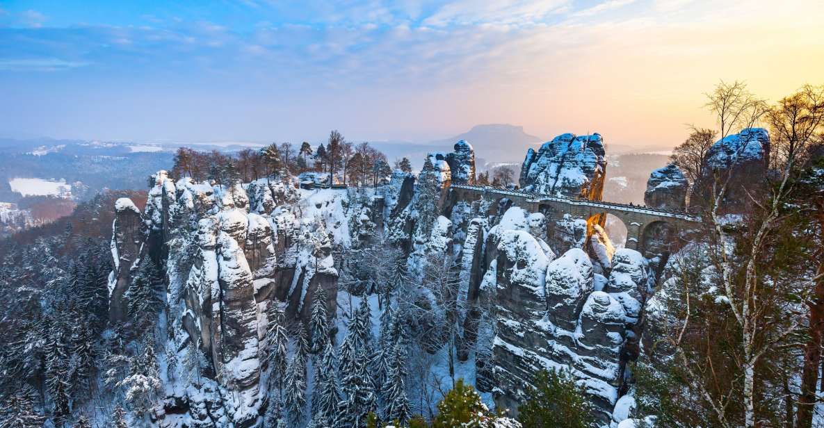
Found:
[[[601,200],[606,157],[600,134],[565,133],[529,149],[521,167],[521,187],[569,198]]]

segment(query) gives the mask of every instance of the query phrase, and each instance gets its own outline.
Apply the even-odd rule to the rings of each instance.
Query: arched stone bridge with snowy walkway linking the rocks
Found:
[[[618,217],[626,226],[625,247],[636,249],[648,256],[680,248],[681,232],[695,229],[701,221],[700,217],[691,216],[686,212],[465,184],[452,185],[452,198],[463,201],[485,198],[499,202],[500,206],[511,202],[512,205],[528,212],[541,212],[547,221],[559,221],[565,214],[569,214],[573,218],[587,221],[588,235],[592,234],[592,226],[604,226],[606,215],[611,214]]]

